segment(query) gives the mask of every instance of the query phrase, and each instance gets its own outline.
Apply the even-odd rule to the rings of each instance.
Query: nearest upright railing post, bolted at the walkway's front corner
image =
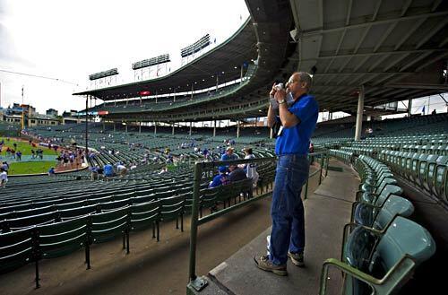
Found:
[[[207,281],[196,276],[196,240],[198,228],[198,212],[199,212],[199,188],[201,186],[202,162],[196,162],[194,165],[194,187],[193,187],[193,204],[192,204],[192,220],[190,227],[190,266],[189,266],[189,285],[194,290],[201,291]]]

